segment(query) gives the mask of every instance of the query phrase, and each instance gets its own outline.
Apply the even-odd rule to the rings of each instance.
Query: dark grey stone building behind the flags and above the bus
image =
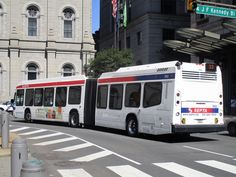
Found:
[[[119,0],[120,6],[124,3]],[[130,48],[136,64],[155,63],[172,59],[189,59],[166,51],[163,41],[174,39],[175,30],[190,26],[185,0],[127,0],[128,25],[119,28],[117,48]],[[100,0],[100,49],[114,47],[114,18],[111,1]],[[125,45],[126,44],[126,45]],[[172,55],[169,55],[169,54]],[[179,57],[177,57],[179,55]]]

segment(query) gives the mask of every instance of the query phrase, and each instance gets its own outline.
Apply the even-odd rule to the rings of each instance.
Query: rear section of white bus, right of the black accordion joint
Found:
[[[132,106],[134,92],[139,98]],[[222,94],[221,71],[214,64],[120,68],[98,79],[95,125],[130,135],[222,131]]]

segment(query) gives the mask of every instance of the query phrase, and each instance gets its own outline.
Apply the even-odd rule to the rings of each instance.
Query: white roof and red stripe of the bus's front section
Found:
[[[35,87],[84,84],[86,79],[87,77],[85,75],[76,75],[76,76],[68,76],[68,77],[26,80],[19,83],[16,88],[20,89],[20,88],[35,88]]]

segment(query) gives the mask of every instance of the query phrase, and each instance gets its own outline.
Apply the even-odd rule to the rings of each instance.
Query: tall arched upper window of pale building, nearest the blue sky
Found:
[[[66,8],[63,11],[64,18],[64,38],[72,38],[73,37],[73,20],[75,17],[75,13],[72,9]]]

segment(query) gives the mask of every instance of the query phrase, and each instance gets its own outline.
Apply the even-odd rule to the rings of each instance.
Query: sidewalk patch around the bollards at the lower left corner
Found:
[[[10,133],[9,147],[2,149],[2,137],[0,136],[0,176],[11,177],[11,143],[17,137],[17,134]]]

